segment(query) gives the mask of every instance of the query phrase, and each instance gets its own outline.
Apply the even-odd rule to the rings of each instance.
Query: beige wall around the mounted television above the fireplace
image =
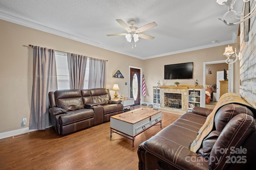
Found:
[[[234,45],[234,44],[231,44]],[[144,97],[144,102],[153,102],[153,86],[157,86],[158,80],[162,85],[174,85],[176,80],[164,80],[164,65],[175,64],[175,63],[186,63],[194,62],[194,72],[193,79],[190,80],[178,80],[180,85],[194,85],[196,79],[198,79],[199,85],[203,85],[203,65],[204,62],[210,61],[221,61],[225,60],[223,52],[226,45],[212,47],[208,49],[201,49],[196,51],[190,51],[186,53],[180,53],[175,55],[169,55],[164,57],[158,57],[154,59],[148,59],[144,61],[144,73],[146,81],[147,96]],[[223,69],[222,69],[223,70]],[[236,73],[239,72],[239,67],[234,65],[234,70]],[[207,70],[208,74],[208,70]],[[239,81],[234,80],[234,84],[239,84]],[[210,84],[212,85],[212,84]],[[235,85],[234,85],[235,86]],[[235,91],[239,93],[239,91]]]

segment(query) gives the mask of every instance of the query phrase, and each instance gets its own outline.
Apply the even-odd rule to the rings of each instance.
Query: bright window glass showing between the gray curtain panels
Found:
[[[57,89],[70,89],[70,78],[68,73],[68,53],[55,51],[56,74],[57,74]],[[86,63],[86,72],[84,78],[84,89],[88,89],[89,78],[89,58]]]

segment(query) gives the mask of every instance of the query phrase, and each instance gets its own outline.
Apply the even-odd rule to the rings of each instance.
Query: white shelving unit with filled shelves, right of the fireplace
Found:
[[[189,89],[188,90],[188,110],[192,110],[194,107],[202,107],[203,89]]]

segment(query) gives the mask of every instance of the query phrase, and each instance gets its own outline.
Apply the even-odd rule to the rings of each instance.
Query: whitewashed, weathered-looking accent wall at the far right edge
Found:
[[[250,1],[254,6],[255,1]],[[253,4],[252,4],[253,3]],[[252,9],[252,7],[250,8]],[[240,24],[240,95],[256,107],[256,16],[250,18],[249,39],[244,42],[244,23]]]

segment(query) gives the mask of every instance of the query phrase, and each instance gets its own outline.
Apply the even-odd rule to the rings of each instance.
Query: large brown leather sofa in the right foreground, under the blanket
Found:
[[[194,107],[138,147],[139,170],[255,170],[256,111],[239,103],[215,112],[212,131],[200,149],[190,143],[212,109]]]

